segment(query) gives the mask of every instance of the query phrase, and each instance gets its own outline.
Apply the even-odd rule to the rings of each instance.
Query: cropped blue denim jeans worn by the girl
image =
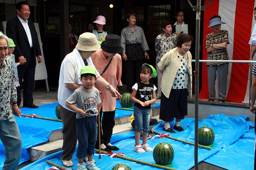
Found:
[[[149,132],[149,122],[151,112],[150,109],[141,109],[134,106],[134,121],[135,121],[135,130]]]

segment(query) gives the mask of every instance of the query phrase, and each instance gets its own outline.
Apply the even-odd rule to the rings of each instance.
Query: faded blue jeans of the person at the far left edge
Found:
[[[0,139],[5,147],[3,170],[17,169],[21,158],[21,136],[14,115],[0,121]]]

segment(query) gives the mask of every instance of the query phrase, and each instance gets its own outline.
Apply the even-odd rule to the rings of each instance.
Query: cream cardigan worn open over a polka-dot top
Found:
[[[158,63],[158,67],[160,70],[163,70],[163,76],[161,81],[161,88],[162,92],[165,97],[169,98],[173,81],[176,77],[176,74],[178,72],[179,66],[180,66],[180,58],[178,58],[177,55],[177,48],[171,49],[169,52],[167,52],[162,58],[161,61]],[[190,52],[188,54],[188,65],[189,65],[189,96],[192,95],[192,66],[191,66],[191,60],[192,55]]]

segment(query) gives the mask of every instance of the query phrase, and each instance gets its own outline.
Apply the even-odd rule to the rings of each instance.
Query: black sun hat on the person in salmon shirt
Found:
[[[123,53],[124,48],[121,46],[121,38],[114,34],[106,36],[105,41],[101,44],[101,49],[106,53]]]

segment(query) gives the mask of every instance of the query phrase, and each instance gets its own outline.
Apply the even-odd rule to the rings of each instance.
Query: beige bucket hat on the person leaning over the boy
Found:
[[[98,44],[98,40],[93,33],[85,32],[79,36],[76,49],[84,52],[90,52],[100,49],[100,45]]]

